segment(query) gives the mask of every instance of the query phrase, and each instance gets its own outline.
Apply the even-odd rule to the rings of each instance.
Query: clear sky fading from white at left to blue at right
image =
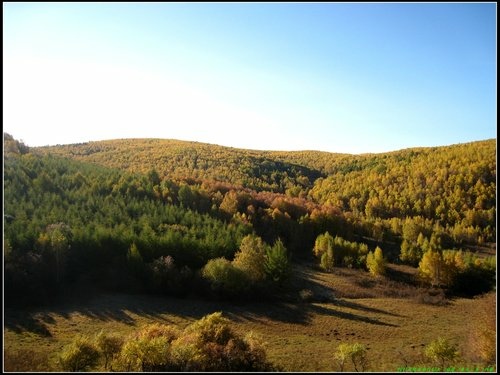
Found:
[[[496,138],[496,3],[3,3],[4,132],[378,153]]]

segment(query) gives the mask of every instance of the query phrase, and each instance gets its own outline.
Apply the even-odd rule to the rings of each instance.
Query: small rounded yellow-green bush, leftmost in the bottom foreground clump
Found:
[[[77,336],[59,356],[64,371],[88,371],[98,360],[99,351],[86,336]]]

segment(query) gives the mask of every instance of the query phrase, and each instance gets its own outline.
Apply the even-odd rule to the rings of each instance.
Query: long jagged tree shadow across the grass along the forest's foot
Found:
[[[109,304],[108,306],[106,306]],[[339,308],[350,308],[361,313],[346,312]],[[327,315],[340,319],[348,319],[375,325],[396,325],[374,319],[363,314],[363,312],[379,313],[392,316],[396,314],[383,310],[373,309],[359,303],[345,300],[336,300],[329,304],[314,303],[290,303],[280,302],[245,302],[234,303],[230,301],[206,301],[201,299],[176,299],[172,297],[154,297],[137,295],[104,295],[94,301],[87,302],[84,306],[74,305],[72,307],[57,308],[50,311],[38,311],[24,314],[5,315],[5,327],[16,333],[32,332],[43,337],[50,337],[50,326],[57,324],[54,317],[71,319],[73,314],[79,314],[90,319],[103,322],[116,321],[127,325],[137,324],[135,316],[150,319],[152,321],[172,324],[172,316],[197,320],[216,311],[222,311],[224,315],[235,322],[251,321],[259,324],[267,324],[270,321],[288,324],[307,325],[314,316]]]

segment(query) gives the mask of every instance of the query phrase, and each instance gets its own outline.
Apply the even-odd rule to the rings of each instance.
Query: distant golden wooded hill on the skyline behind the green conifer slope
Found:
[[[286,154],[276,157],[266,151],[176,140],[124,139],[38,150],[133,172],[155,168],[161,177],[223,181],[258,191],[307,189],[323,175],[307,164],[288,160]]]

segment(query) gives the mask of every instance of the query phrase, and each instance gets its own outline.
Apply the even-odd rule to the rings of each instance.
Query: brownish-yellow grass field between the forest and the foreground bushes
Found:
[[[404,278],[408,269],[394,266],[392,272]],[[408,283],[356,270],[326,274],[300,267],[295,275],[297,298],[275,303],[100,294],[51,308],[6,308],[4,369],[55,371],[58,353],[78,333],[93,336],[104,329],[126,336],[151,322],[184,327],[215,311],[222,311],[236,331],[260,335],[268,358],[285,371],[338,371],[333,352],[342,342],[367,347],[370,371],[431,367],[422,351],[440,336],[462,353],[456,366],[475,365],[467,358],[471,327],[482,319],[477,299],[445,301]]]

